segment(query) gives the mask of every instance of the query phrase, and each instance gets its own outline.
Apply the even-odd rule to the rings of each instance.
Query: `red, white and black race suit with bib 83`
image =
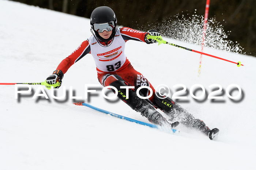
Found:
[[[64,74],[68,68],[82,59],[86,54],[91,54],[96,64],[99,82],[103,86],[109,86],[110,83],[117,80],[116,76],[120,76],[125,82],[131,86],[135,86],[135,90],[140,86],[149,86],[155,90],[146,78],[140,72],[134,70],[131,63],[127,59],[124,49],[125,42],[128,40],[144,41],[147,32],[137,31],[128,27],[119,28],[116,31],[113,42],[109,46],[102,47],[94,36],[83,41],[75,51],[67,58],[61,61],[56,70],[61,70]],[[107,76],[106,76],[107,75]],[[149,91],[147,91],[148,95]],[[154,95],[149,99],[153,101]]]

